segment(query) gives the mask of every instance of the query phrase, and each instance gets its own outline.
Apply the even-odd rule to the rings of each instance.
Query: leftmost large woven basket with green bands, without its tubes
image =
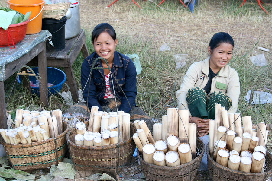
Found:
[[[67,148],[65,135],[68,128],[66,122],[63,122],[63,130],[65,130],[63,133],[55,137],[56,141],[54,138],[50,138],[28,144],[7,144],[3,143],[3,138],[1,138],[1,143],[9,161],[16,170],[47,168],[58,164],[63,159]]]

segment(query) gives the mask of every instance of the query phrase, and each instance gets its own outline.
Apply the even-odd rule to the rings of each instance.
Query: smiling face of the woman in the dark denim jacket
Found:
[[[114,40],[107,32],[101,33],[93,42],[94,49],[100,57],[113,61],[117,39]]]

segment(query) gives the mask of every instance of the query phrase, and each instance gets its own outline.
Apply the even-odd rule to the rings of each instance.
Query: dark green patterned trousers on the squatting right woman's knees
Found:
[[[186,95],[189,111],[192,116],[202,119],[215,119],[215,104],[221,104],[228,110],[232,100],[222,91],[214,91],[207,96],[206,91],[200,87],[193,87]]]

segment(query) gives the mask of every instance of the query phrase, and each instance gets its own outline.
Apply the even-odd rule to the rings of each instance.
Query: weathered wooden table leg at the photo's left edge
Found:
[[[0,128],[6,129],[7,125],[7,115],[5,113],[6,109],[6,101],[5,101],[5,89],[4,89],[4,81],[0,82]]]

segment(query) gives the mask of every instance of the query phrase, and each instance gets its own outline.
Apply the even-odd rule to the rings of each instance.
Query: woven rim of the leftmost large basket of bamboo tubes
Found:
[[[64,122],[64,121],[63,121],[63,123],[64,123],[64,124],[67,124],[67,123]],[[57,140],[57,139],[59,139],[59,138],[65,136],[66,133],[68,132],[68,129],[69,129],[69,128],[67,127],[66,130],[65,130],[63,133],[57,135],[57,136],[55,137],[55,139]],[[3,144],[3,146],[9,147],[9,148],[27,148],[27,147],[32,147],[32,146],[37,146],[37,145],[45,144],[45,143],[48,143],[48,142],[53,141],[53,140],[54,140],[54,138],[50,138],[50,139],[47,139],[47,140],[36,141],[36,142],[33,142],[33,143],[26,143],[26,144],[8,144],[8,143],[4,143],[4,142],[3,142],[4,140],[3,140],[3,138],[2,138],[2,139],[1,139],[1,143]]]

